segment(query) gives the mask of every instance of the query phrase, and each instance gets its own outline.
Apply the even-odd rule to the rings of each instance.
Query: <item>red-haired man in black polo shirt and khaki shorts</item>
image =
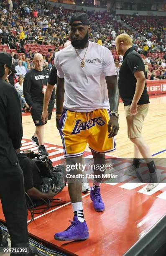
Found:
[[[140,158],[143,156],[150,172],[150,183],[146,187],[147,191],[150,191],[160,182],[161,174],[156,172],[156,166],[151,159],[151,151],[141,136],[149,104],[145,66],[140,55],[132,47],[132,39],[128,34],[117,36],[115,44],[117,54],[123,55],[118,84],[120,97],[125,105],[128,137],[134,144],[133,165],[125,171],[125,174],[137,177]]]

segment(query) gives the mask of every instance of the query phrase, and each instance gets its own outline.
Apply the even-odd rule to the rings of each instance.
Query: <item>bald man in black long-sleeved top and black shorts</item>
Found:
[[[27,104],[31,109],[31,116],[33,122],[36,125],[36,131],[31,140],[36,143],[38,147],[38,153],[48,156],[43,142],[44,135],[44,123],[41,120],[41,114],[43,111],[43,99],[46,91],[46,86],[49,78],[49,71],[43,68],[43,56],[41,54],[35,54],[33,57],[34,69],[31,69],[25,76],[23,83],[23,94]],[[52,110],[54,108],[55,90],[51,95],[49,101],[49,120],[51,119]]]

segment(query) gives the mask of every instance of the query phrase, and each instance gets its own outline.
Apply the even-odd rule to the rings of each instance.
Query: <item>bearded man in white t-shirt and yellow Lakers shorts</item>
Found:
[[[90,197],[94,210],[105,210],[100,194],[104,172],[97,171],[95,166],[105,164],[105,153],[115,150],[114,136],[119,129],[119,92],[112,54],[106,47],[89,41],[90,23],[86,13],[74,13],[69,24],[71,45],[55,56],[58,76],[56,127],[64,147],[74,219],[67,230],[55,234],[54,238],[60,241],[89,237],[82,207],[82,176],[79,176],[82,169],[77,168],[82,163],[87,143],[94,157],[94,175],[100,174],[94,179]],[[43,122],[48,117],[47,107],[53,88],[49,85],[46,89]],[[80,179],[74,179],[74,175]]]

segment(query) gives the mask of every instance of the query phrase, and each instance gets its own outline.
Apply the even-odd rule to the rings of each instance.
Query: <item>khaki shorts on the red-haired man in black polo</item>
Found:
[[[136,115],[131,115],[130,106],[125,106],[125,115],[128,125],[128,138],[140,138],[143,121],[148,113],[149,104],[138,105]]]

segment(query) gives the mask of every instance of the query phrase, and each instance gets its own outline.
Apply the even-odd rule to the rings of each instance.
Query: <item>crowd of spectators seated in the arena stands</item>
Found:
[[[123,57],[117,56],[115,37],[128,33],[144,59],[147,79],[166,78],[166,17],[87,13],[91,21],[89,40],[108,47],[118,68]],[[37,52],[43,54],[44,66],[51,69],[56,52],[70,40],[71,15],[71,10],[61,5],[57,8],[56,4],[53,7],[46,0],[1,1],[0,51],[12,54],[17,76],[25,76],[33,68],[33,55]]]

